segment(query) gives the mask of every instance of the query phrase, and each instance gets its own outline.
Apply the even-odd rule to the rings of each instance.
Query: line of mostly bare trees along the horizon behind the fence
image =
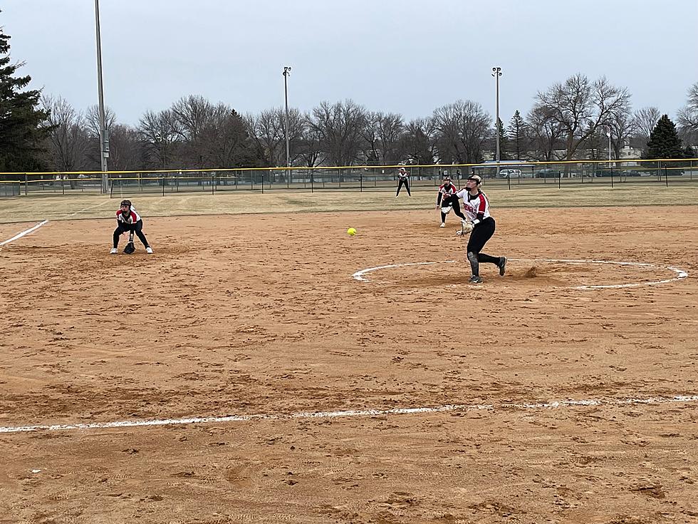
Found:
[[[0,28],[0,172],[100,170],[97,106],[80,111],[61,96],[26,90],[16,76],[9,36]],[[525,115],[508,123],[481,103],[459,99],[424,118],[370,111],[348,98],[321,101],[310,111],[288,110],[294,167],[476,164],[494,150],[501,160],[604,160],[625,145],[642,158],[694,158],[698,145],[698,82],[678,112],[632,110],[630,91],[604,76],[576,73],[539,91]],[[286,111],[241,115],[226,103],[188,95],[162,111],[146,111],[137,125],[119,123],[105,108],[110,170],[177,170],[286,166]]]

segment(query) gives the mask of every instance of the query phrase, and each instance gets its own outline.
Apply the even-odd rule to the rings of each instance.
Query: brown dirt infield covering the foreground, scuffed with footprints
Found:
[[[143,214],[0,250],[0,523],[698,522],[698,207]]]

